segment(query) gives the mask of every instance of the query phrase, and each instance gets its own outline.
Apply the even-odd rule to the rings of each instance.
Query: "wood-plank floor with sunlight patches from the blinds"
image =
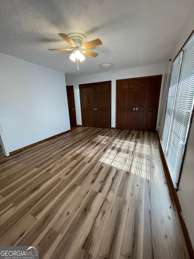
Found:
[[[81,127],[0,159],[0,246],[44,259],[189,258],[156,133]]]

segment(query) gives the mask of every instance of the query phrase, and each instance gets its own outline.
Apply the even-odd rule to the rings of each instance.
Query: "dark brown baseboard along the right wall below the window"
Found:
[[[194,251],[193,251],[193,248],[192,248],[192,244],[191,244],[191,240],[190,240],[190,237],[189,237],[187,227],[186,227],[184,219],[182,217],[182,210],[181,210],[179,199],[178,199],[178,196],[177,196],[177,193],[176,193],[176,189],[174,188],[174,184],[173,184],[171,176],[170,176],[170,172],[169,172],[169,169],[168,169],[168,166],[167,166],[167,163],[166,163],[166,159],[165,159],[164,153],[162,151],[162,146],[161,146],[161,143],[160,143],[160,138],[159,138],[158,132],[156,131],[156,133],[157,133],[158,140],[159,140],[159,149],[160,149],[160,155],[161,155],[161,158],[162,158],[162,164],[164,165],[165,174],[166,174],[167,179],[169,180],[170,187],[172,189],[172,193],[173,193],[173,196],[174,196],[174,199],[175,199],[176,208],[177,208],[177,211],[178,211],[178,214],[179,214],[179,219],[180,219],[182,231],[183,231],[183,234],[184,234],[184,237],[185,237],[185,241],[186,241],[187,249],[188,249],[188,252],[189,252],[189,256],[190,256],[190,258],[194,258]]]

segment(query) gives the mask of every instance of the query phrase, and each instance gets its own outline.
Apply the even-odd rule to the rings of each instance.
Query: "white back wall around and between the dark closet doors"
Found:
[[[95,83],[103,81],[112,81],[112,94],[111,94],[111,127],[115,127],[115,111],[116,111],[116,80],[133,78],[133,77],[147,77],[164,74],[165,64],[155,65],[155,66],[146,66],[133,68],[128,70],[120,70],[113,72],[104,72],[101,74],[83,76],[83,77],[73,77],[68,78],[66,76],[66,84],[73,85],[74,95],[75,95],[75,110],[76,110],[76,119],[77,124],[82,125],[82,116],[81,116],[81,105],[80,105],[80,95],[79,95],[79,84],[83,83]],[[163,79],[162,79],[163,81]],[[163,84],[163,83],[162,83]],[[162,88],[162,86],[161,86]],[[77,103],[77,104],[76,104]],[[159,102],[159,109],[160,109]]]

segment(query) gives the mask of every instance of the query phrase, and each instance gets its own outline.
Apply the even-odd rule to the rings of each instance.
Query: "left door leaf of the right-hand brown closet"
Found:
[[[136,79],[117,83],[117,128],[135,128],[136,89]]]

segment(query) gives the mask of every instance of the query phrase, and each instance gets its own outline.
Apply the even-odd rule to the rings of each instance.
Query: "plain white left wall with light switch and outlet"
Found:
[[[0,123],[8,152],[69,130],[65,74],[3,53],[0,60]]]

